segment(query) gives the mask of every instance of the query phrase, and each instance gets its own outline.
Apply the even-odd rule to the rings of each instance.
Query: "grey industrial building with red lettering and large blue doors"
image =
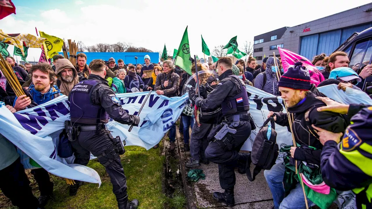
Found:
[[[354,32],[372,27],[372,3],[334,15],[283,27],[254,36],[253,57],[262,62],[264,56],[279,57],[278,48],[285,48],[309,60],[315,55],[330,55]]]

